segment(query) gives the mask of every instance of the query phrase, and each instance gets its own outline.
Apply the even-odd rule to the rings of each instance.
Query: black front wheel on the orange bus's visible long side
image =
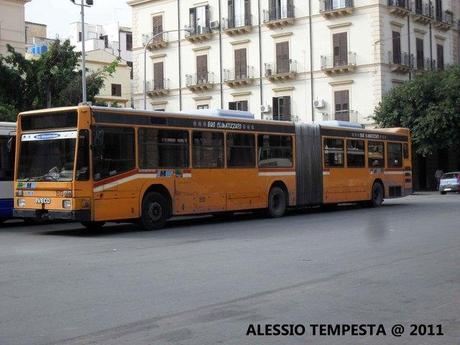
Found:
[[[150,192],[142,201],[141,225],[145,230],[158,230],[165,226],[169,217],[166,198],[160,193]]]

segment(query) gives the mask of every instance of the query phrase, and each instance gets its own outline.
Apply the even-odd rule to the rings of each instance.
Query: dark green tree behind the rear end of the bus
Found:
[[[418,154],[460,145],[460,66],[425,73],[393,88],[376,108],[382,127],[412,130]]]

